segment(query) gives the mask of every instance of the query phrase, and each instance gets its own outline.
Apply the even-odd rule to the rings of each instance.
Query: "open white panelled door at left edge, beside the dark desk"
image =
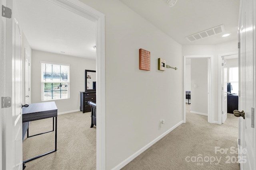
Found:
[[[12,18],[6,18],[5,55],[5,95],[12,98],[11,107],[4,108],[5,115],[2,131],[3,169],[22,170],[22,58],[21,32],[18,21],[14,18],[15,10],[12,0],[6,1],[6,7],[12,9]]]

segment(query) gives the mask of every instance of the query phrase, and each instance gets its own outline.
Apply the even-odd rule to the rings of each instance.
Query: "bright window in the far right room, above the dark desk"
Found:
[[[229,82],[232,86],[231,93],[238,94],[238,67],[230,67],[228,71]]]

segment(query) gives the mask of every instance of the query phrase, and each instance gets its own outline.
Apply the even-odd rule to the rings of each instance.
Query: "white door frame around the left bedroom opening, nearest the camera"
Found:
[[[105,15],[79,0],[48,0],[96,23],[96,169],[106,169]]]

